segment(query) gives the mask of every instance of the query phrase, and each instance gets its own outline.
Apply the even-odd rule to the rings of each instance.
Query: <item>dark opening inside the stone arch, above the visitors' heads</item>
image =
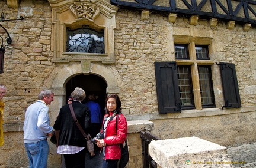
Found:
[[[95,101],[100,104],[101,113],[105,114],[105,98],[107,97],[106,88],[107,83],[103,78],[97,75],[77,75],[71,78],[68,83],[66,83],[66,101],[68,101],[69,95],[76,87],[80,87],[85,91],[86,95],[94,94]],[[86,98],[82,103],[86,103]]]

